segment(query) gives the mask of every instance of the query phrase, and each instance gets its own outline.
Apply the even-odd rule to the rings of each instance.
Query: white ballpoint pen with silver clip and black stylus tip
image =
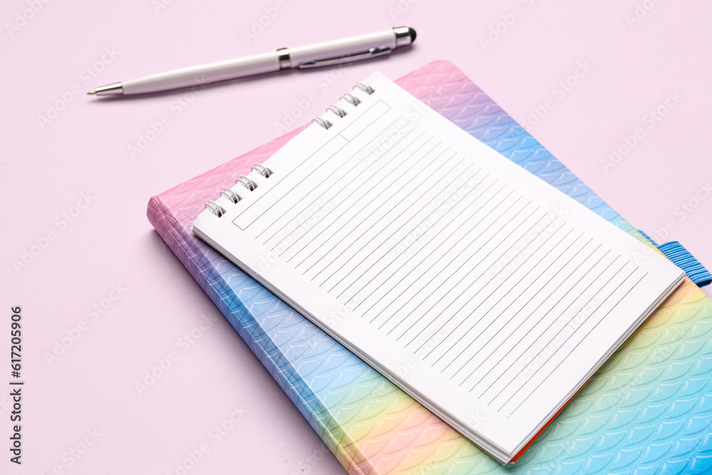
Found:
[[[270,53],[244,56],[216,63],[174,69],[165,73],[100,86],[90,95],[130,95],[157,93],[162,90],[188,88],[221,80],[244,78],[283,69],[333,66],[351,61],[375,58],[408,46],[415,40],[415,30],[398,26],[378,33],[325,41],[297,48],[279,48]]]

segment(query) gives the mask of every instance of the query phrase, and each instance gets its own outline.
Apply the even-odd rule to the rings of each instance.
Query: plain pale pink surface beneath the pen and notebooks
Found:
[[[246,37],[265,9],[275,18]],[[712,5],[692,0],[4,1],[0,385],[10,379],[9,308],[22,306],[26,386],[23,465],[4,449],[0,471],[175,474],[202,447],[187,473],[340,473],[145,210],[153,194],[301,125],[372,71],[397,78],[453,61],[634,226],[682,241],[712,266],[711,17]],[[341,70],[236,80],[195,95],[84,94],[400,25],[418,31],[410,51]],[[666,105],[668,97],[676,99]],[[659,121],[649,115],[658,108]],[[619,147],[627,153],[604,167]],[[137,390],[161,363],[163,375]],[[0,390],[5,441],[8,392]]]

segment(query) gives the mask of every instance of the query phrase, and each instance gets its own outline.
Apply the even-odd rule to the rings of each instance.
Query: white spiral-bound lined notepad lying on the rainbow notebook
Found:
[[[193,230],[502,463],[684,278],[378,73]]]

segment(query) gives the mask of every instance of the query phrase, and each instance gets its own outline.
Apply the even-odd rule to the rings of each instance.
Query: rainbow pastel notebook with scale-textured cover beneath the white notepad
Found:
[[[518,165],[649,241],[452,63],[396,83]],[[712,302],[689,279],[501,466],[190,231],[205,202],[299,130],[152,197],[164,241],[350,474],[712,472]]]

